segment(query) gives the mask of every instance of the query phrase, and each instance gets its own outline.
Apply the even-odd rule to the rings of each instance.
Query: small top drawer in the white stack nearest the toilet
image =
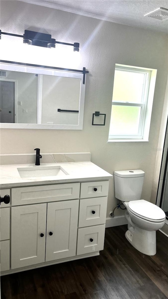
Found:
[[[107,196],[109,181],[81,183],[80,198]]]

